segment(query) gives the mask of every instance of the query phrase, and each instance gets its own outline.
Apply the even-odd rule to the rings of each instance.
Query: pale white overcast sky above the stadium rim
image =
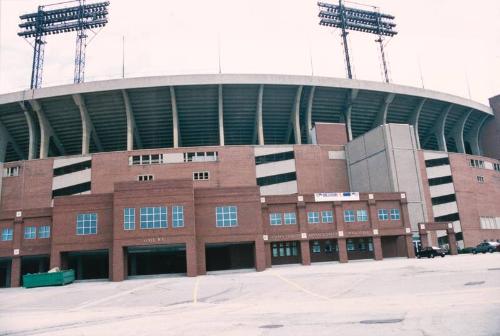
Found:
[[[29,87],[33,50],[17,36],[19,16],[58,1],[0,0],[0,94]],[[346,77],[340,32],[318,25],[316,1],[110,1],[109,23],[87,47],[87,82],[121,78],[123,54],[125,77],[210,74],[219,69]],[[87,0],[91,2],[97,1]],[[386,40],[392,83],[487,105],[488,98],[500,94],[499,0],[359,2],[396,17],[398,34]],[[47,37],[43,87],[72,83],[75,39],[75,32]],[[349,34],[356,79],[382,81],[375,39]]]

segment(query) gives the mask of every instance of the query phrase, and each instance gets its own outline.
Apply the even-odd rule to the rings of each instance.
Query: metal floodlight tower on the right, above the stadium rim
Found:
[[[348,30],[360,31],[378,35],[376,42],[380,43],[380,52],[382,54],[382,64],[384,67],[385,81],[389,82],[389,72],[384,52],[383,38],[385,36],[394,36],[397,31],[394,30],[396,24],[393,22],[394,16],[380,13],[377,11],[367,11],[357,8],[345,7],[342,0],[338,5],[324,2],[318,2],[320,9],[318,16],[321,18],[321,26],[340,28],[342,43],[344,45],[344,55],[347,68],[347,77],[352,79],[351,60],[349,57],[349,47],[347,45]]]

